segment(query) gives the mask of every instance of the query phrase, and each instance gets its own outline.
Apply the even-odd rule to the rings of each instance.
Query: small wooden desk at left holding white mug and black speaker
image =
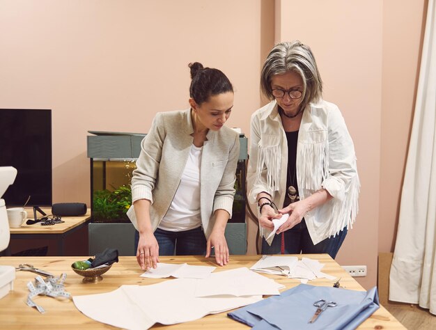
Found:
[[[47,214],[51,210],[42,209]],[[41,226],[40,223],[26,225],[26,222],[20,228],[10,228],[10,239],[56,239],[56,246],[59,256],[65,254],[64,239],[76,230],[85,226],[91,220],[91,210],[80,217],[62,217],[64,223],[56,223],[53,226]]]

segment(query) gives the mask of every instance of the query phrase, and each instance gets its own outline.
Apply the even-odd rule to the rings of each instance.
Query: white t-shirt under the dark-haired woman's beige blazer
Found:
[[[182,231],[201,226],[200,168],[202,154],[203,147],[191,146],[176,195],[157,228]]]

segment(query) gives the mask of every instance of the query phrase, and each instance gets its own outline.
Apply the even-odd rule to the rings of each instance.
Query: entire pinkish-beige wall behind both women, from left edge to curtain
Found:
[[[0,107],[53,110],[54,203],[89,203],[88,130],[148,132],[157,111],[187,108],[187,63],[201,61],[228,74],[235,86],[228,125],[249,135],[249,116],[265,102],[258,79],[274,36],[298,38],[311,45],[325,99],[338,104],[355,141],[360,212],[338,261],[368,265],[359,281],[369,288],[377,252],[394,242],[424,6],[0,0]]]

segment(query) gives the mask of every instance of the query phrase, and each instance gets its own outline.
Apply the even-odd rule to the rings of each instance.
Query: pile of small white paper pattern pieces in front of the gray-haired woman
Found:
[[[321,272],[324,264],[318,260],[303,257],[290,256],[262,256],[250,269],[267,274],[283,275],[288,278],[299,278],[302,283],[312,281],[315,278],[327,278],[334,280],[336,277]]]

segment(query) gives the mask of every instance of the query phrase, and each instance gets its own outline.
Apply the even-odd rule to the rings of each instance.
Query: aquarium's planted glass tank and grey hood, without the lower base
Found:
[[[88,131],[91,160],[91,218],[93,223],[130,223],[126,212],[132,204],[130,182],[146,134]],[[240,136],[233,217],[229,223],[245,223],[247,138]]]

